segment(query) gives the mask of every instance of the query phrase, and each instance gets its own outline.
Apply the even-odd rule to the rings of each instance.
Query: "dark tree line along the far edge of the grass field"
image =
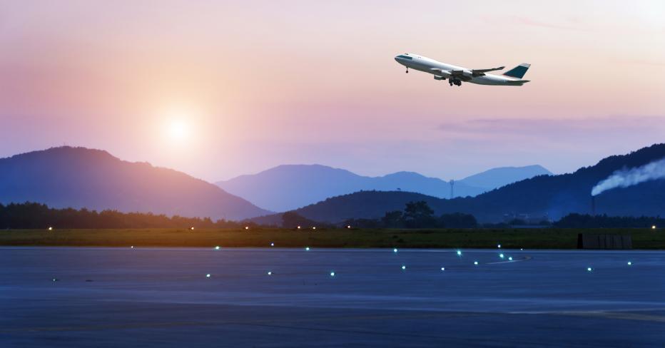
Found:
[[[117,210],[79,210],[73,208],[49,208],[40,203],[0,204],[0,228],[2,229],[41,229],[41,228],[240,228],[257,226],[253,222],[235,222],[210,218],[184,218],[174,215],[156,215],[153,213],[121,213]],[[282,226],[320,226],[333,228],[335,225],[316,222],[287,212],[282,215]],[[474,227],[510,227],[510,223],[480,225],[473,215],[450,213],[435,215],[425,201],[409,202],[404,210],[393,210],[379,219],[349,219],[343,226],[357,228],[474,228]],[[629,217],[569,214],[552,227],[559,228],[650,228],[665,227],[665,218]],[[341,226],[340,226],[341,227]]]

